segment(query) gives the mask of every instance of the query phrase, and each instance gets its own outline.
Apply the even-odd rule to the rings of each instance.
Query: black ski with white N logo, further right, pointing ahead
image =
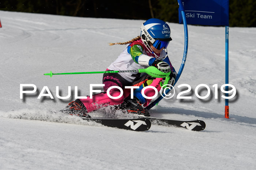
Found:
[[[146,117],[151,121],[152,124],[163,125],[163,126],[175,126],[175,127],[182,127],[193,131],[201,131],[204,130],[206,124],[203,120],[170,120],[170,119],[162,119],[162,118],[153,118],[153,117]]]

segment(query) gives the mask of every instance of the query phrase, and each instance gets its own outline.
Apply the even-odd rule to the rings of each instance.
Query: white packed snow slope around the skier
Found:
[[[135,132],[88,123],[59,112],[74,99],[89,95],[102,74],[44,73],[105,71],[128,41],[140,34],[144,20],[96,19],[0,11],[0,169],[256,169],[256,28],[230,28],[230,119],[224,118],[225,28],[188,25],[189,48],[184,71],[172,99],[162,100],[151,116],[201,119],[201,132],[153,125]],[[178,71],[184,51],[183,25],[168,23],[172,41],[168,54]],[[20,84],[37,91],[20,99]],[[189,84],[192,90],[177,99]],[[210,96],[199,99],[196,87],[206,84]],[[218,84],[215,99],[214,84]],[[42,96],[47,86],[54,99]],[[56,96],[59,86],[60,96]],[[33,88],[26,88],[33,90]],[[47,91],[44,91],[47,94]],[[200,87],[201,96],[207,94]],[[107,112],[105,115],[104,112]],[[108,109],[92,117],[118,117]]]

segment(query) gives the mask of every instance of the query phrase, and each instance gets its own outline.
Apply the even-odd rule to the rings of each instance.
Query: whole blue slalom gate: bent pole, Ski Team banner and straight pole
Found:
[[[174,85],[177,83],[184,68],[188,52],[188,27],[195,25],[225,25],[226,26],[226,84],[228,84],[228,40],[229,40],[229,0],[177,0],[179,4],[179,23],[184,25],[185,45],[182,64]],[[159,96],[146,107],[146,110],[154,107],[172,88]],[[228,91],[228,86],[226,86]],[[226,96],[228,94],[226,93]],[[225,99],[225,118],[229,118],[228,99]]]

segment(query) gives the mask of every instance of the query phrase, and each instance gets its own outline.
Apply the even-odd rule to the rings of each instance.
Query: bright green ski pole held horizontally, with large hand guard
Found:
[[[64,74],[98,74],[98,73],[118,73],[118,72],[144,72],[152,77],[155,78],[161,78],[161,77],[167,77],[170,75],[170,72],[164,73],[160,70],[158,70],[156,67],[150,66],[148,68],[142,68],[138,70],[124,70],[124,71],[91,71],[91,72],[65,72],[65,73],[46,73],[44,75],[49,75],[52,77],[53,75],[64,75]]]

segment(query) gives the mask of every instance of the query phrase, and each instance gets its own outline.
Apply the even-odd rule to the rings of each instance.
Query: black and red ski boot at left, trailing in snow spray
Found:
[[[91,116],[87,114],[86,107],[79,99],[76,99],[75,101],[70,102],[68,106],[66,106],[64,109],[60,111],[65,114],[76,115],[82,118],[91,118]]]

